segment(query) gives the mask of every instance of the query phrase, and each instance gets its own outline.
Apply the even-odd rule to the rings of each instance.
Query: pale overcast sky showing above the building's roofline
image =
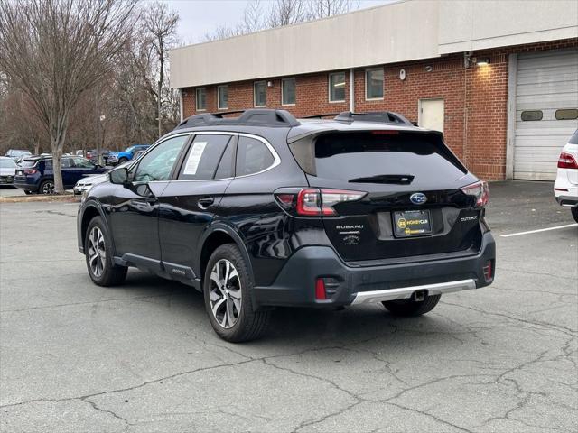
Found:
[[[266,0],[267,1],[267,0]],[[360,8],[383,5],[393,0],[361,0]],[[205,33],[219,25],[235,27],[243,17],[246,0],[163,0],[179,13],[179,36],[183,44],[203,41]]]

